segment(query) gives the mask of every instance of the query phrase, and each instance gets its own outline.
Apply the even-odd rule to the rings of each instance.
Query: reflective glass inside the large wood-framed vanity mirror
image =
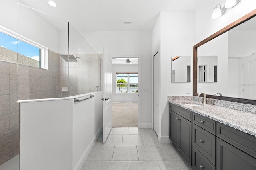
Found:
[[[198,93],[256,100],[256,17],[198,47],[198,56]],[[218,79],[202,62],[209,56],[218,61]],[[216,83],[201,83],[209,81]]]

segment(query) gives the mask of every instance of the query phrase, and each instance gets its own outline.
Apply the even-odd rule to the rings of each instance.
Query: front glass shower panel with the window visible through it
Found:
[[[68,97],[68,21],[17,6],[18,100]]]

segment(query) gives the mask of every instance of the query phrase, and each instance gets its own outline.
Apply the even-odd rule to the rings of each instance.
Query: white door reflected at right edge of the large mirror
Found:
[[[256,55],[243,58],[243,98],[256,99]]]

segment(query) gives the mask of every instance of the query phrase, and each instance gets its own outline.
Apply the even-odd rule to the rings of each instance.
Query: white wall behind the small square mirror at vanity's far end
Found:
[[[169,105],[167,96],[192,95],[192,82],[172,82],[172,55],[191,56],[194,44],[193,12],[161,12],[160,15],[160,138],[169,136]],[[154,43],[153,43],[154,44]],[[192,60],[191,60],[192,66]],[[192,69],[192,67],[191,67]],[[192,76],[192,73],[191,73]],[[186,94],[190,88],[190,94]]]

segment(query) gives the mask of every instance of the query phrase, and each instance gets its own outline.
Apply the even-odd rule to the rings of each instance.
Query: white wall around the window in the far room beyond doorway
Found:
[[[137,64],[112,64],[112,101],[113,102],[138,102],[138,93],[116,93],[117,72],[138,72]]]

